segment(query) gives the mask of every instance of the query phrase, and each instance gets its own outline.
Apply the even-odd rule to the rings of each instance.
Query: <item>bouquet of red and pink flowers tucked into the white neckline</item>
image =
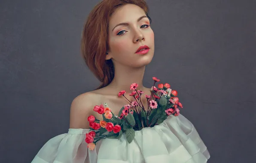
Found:
[[[136,130],[141,130],[144,127],[153,127],[161,124],[165,119],[174,115],[180,114],[178,107],[183,108],[179,102],[177,91],[171,90],[168,83],[158,84],[155,83],[160,80],[156,77],[152,78],[154,85],[151,88],[151,95],[145,95],[147,99],[146,106],[143,106],[141,95],[143,91],[137,90],[136,83],[131,84],[130,89],[133,90],[130,96],[134,97],[134,101],[129,101],[125,97],[126,91],[120,91],[118,96],[125,97],[129,104],[120,109],[119,115],[114,115],[111,109],[105,103],[105,107],[94,106],[94,111],[102,115],[103,120],[96,119],[93,115],[88,117],[90,132],[85,134],[85,142],[88,143],[87,147],[90,150],[95,148],[96,143],[100,139],[120,139],[122,133],[125,133],[128,143],[131,143],[135,136]],[[131,110],[131,108],[134,110]]]

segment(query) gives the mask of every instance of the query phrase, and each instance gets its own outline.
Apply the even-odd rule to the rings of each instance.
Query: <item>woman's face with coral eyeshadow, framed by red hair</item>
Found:
[[[141,18],[142,16],[145,17]],[[128,23],[128,25],[116,26],[119,23]],[[110,17],[108,31],[110,49],[107,51],[106,59],[112,58],[115,66],[122,64],[141,67],[149,64],[155,46],[154,32],[149,25],[149,19],[139,6],[126,4],[118,8]],[[136,54],[141,45],[149,47],[147,54]]]

